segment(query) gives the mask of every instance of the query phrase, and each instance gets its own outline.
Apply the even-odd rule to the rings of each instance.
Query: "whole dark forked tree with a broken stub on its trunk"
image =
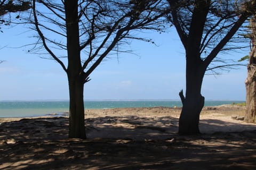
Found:
[[[204,106],[201,95],[206,70],[219,58],[217,55],[233,49],[228,44],[246,19],[255,11],[244,10],[255,6],[255,1],[171,1],[169,20],[173,23],[186,51],[186,95],[181,90],[182,111],[179,134],[200,133],[199,115]],[[176,6],[176,7],[174,7]],[[224,64],[222,66],[230,66]]]

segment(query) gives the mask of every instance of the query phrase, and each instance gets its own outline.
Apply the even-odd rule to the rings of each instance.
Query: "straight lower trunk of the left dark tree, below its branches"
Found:
[[[83,91],[82,80],[69,79],[69,138],[86,139]]]

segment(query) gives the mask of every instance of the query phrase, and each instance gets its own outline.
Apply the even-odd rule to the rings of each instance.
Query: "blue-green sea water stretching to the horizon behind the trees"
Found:
[[[244,101],[205,101],[205,106],[242,103]],[[125,107],[181,107],[175,100],[131,100],[131,101],[84,101],[85,109],[125,108]],[[68,113],[69,101],[0,101],[0,117],[34,117]]]

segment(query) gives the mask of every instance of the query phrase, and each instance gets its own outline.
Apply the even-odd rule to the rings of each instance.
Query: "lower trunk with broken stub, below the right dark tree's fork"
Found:
[[[200,62],[200,61],[198,61]],[[204,70],[196,61],[188,62],[186,71],[186,97],[180,92],[183,107],[179,118],[179,134],[199,134],[199,115],[204,106],[204,97],[201,95],[201,87]]]

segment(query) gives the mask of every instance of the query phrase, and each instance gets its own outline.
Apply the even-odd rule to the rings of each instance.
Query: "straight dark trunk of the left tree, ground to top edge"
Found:
[[[84,126],[84,82],[79,44],[78,1],[66,0],[66,31],[69,83],[69,138],[85,139]]]

